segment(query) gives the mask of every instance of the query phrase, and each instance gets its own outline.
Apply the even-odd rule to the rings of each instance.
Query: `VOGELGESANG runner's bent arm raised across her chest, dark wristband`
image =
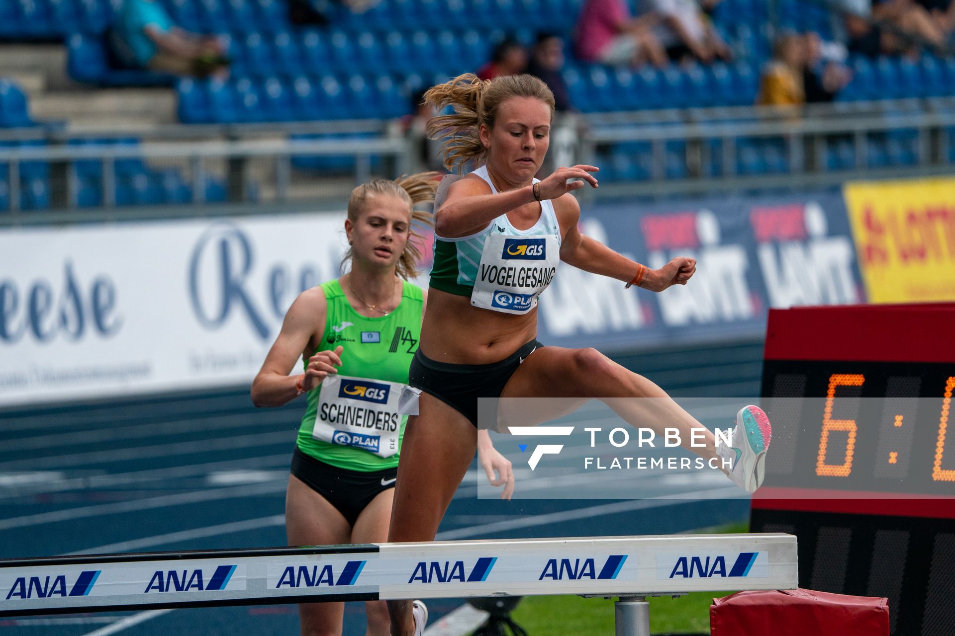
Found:
[[[594,166],[574,166],[558,168],[538,185],[541,199],[558,198],[568,192],[584,187],[584,181],[597,187],[597,179],[590,173],[599,170]],[[567,179],[584,179],[567,181]],[[497,195],[491,194],[491,188],[483,179],[464,178],[456,181],[448,189],[448,196],[435,213],[435,233],[437,236],[456,238],[480,232],[493,219],[516,210],[525,203],[535,200],[534,187],[525,186],[518,190],[509,190]]]

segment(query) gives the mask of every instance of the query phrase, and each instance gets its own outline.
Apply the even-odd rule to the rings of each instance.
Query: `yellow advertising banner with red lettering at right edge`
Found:
[[[955,300],[955,178],[843,188],[869,302]]]

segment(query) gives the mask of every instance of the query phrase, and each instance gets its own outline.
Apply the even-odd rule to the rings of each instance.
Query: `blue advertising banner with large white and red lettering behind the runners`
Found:
[[[864,301],[837,193],[688,199],[584,208],[581,230],[657,268],[697,260],[662,294],[562,266],[541,296],[541,340],[561,346],[756,337],[770,307]]]

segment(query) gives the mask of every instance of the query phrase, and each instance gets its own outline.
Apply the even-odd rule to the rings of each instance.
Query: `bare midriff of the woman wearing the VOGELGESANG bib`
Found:
[[[536,307],[523,315],[502,314],[472,306],[471,297],[432,287],[418,347],[438,362],[491,364],[536,337]]]

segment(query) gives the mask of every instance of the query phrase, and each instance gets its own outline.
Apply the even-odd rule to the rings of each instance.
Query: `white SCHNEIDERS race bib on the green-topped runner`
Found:
[[[400,382],[329,376],[322,380],[311,436],[391,457],[398,452],[402,414],[416,414],[407,392]]]

